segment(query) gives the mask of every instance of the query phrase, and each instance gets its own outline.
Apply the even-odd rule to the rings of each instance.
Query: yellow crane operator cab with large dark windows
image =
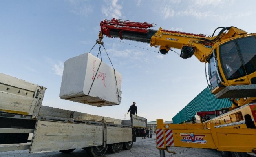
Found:
[[[223,42],[215,47],[207,62],[208,85],[215,97],[256,97],[255,35]]]

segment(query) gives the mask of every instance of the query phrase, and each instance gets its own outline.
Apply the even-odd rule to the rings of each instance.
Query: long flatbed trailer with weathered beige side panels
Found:
[[[121,120],[42,105],[46,88],[0,73],[0,152],[83,148],[93,157],[132,148],[147,119]],[[32,135],[31,140],[29,135]]]

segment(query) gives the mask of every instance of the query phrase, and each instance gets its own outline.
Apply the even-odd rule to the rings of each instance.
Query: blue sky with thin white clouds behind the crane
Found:
[[[154,23],[155,30],[212,35],[217,27],[235,26],[255,33],[255,6],[254,0],[1,0],[0,73],[47,87],[45,106],[129,119],[136,101],[138,115],[148,121],[170,121],[207,87],[196,57],[184,60],[149,44],[104,37],[122,74],[122,101],[100,108],[59,98],[64,62],[90,51],[104,19]]]

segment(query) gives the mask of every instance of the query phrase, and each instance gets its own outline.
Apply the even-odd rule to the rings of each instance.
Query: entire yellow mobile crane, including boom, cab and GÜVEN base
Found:
[[[223,157],[245,157],[256,153],[256,33],[236,27],[218,27],[210,35],[149,29],[156,24],[112,19],[101,21],[103,35],[145,42],[167,54],[181,49],[180,57],[195,55],[205,62],[209,90],[216,98],[232,101],[230,111],[199,124],[164,124],[157,119],[157,149],[164,157],[170,146],[210,148]],[[207,66],[206,66],[207,65]],[[208,76],[207,71],[208,70]],[[174,153],[174,152],[173,152]]]

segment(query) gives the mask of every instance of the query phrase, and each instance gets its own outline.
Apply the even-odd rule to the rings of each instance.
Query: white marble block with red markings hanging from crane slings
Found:
[[[60,98],[109,106],[121,103],[122,76],[113,67],[91,53],[66,60],[60,87]]]

